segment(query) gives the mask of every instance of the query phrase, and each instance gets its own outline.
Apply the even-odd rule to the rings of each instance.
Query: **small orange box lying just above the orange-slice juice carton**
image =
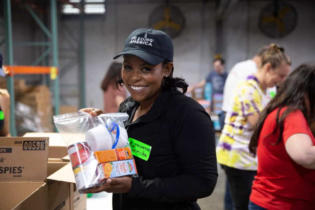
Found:
[[[130,147],[95,151],[94,156],[99,163],[132,159]]]

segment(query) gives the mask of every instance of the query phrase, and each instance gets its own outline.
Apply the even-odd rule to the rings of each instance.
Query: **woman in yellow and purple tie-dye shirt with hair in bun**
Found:
[[[217,146],[217,160],[226,172],[236,210],[248,209],[257,171],[257,159],[250,154],[248,145],[259,113],[268,103],[266,88],[283,82],[290,66],[290,58],[284,49],[271,44],[261,58],[258,71],[234,89],[234,104],[226,113]]]

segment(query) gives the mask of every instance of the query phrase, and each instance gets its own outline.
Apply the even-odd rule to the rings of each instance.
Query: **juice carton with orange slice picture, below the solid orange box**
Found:
[[[96,170],[100,182],[110,177],[121,177],[137,173],[135,159],[103,162],[97,166]]]

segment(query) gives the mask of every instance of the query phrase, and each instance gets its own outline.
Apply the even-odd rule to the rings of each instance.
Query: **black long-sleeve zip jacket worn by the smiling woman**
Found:
[[[131,97],[118,112],[127,112],[128,137],[151,146],[147,161],[135,157],[139,177],[127,194],[113,194],[113,210],[200,209],[217,181],[215,134],[207,112],[179,91],[157,96],[152,108],[135,122],[139,103]]]

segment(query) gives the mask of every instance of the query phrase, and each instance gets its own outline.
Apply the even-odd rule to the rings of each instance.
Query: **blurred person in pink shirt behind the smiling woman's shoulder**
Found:
[[[104,95],[104,112],[117,112],[119,105],[127,98],[125,88],[117,86],[118,78],[121,78],[122,63],[112,62],[101,83]]]

